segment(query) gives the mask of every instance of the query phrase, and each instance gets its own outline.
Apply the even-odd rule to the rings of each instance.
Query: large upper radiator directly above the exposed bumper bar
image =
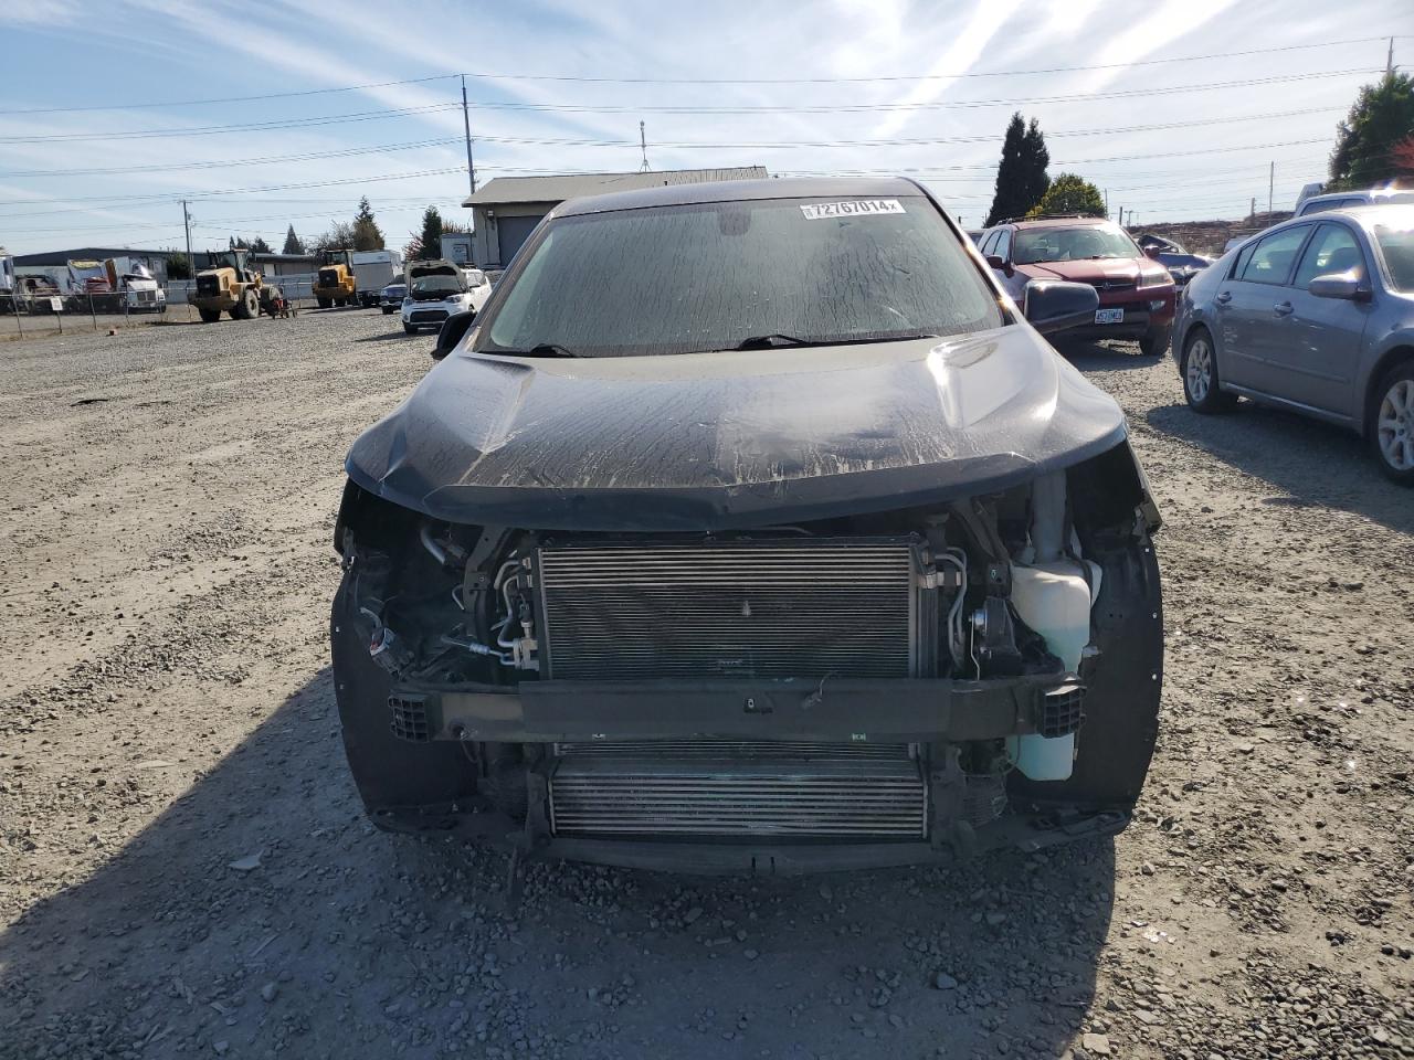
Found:
[[[536,557],[554,680],[929,676],[912,538],[566,543]]]

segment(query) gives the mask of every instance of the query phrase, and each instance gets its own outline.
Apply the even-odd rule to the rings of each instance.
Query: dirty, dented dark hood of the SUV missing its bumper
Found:
[[[1012,325],[650,358],[462,351],[346,466],[454,523],[718,530],[1000,489],[1124,437],[1113,399]]]

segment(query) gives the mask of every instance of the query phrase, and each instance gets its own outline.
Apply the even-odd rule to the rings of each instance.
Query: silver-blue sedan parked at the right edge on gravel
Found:
[[[1229,250],[1184,291],[1172,352],[1193,410],[1243,396],[1339,424],[1414,485],[1414,206],[1295,218]]]

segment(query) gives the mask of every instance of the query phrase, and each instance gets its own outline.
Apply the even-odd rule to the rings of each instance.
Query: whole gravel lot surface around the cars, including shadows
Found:
[[[1072,352],[1168,520],[1162,736],[1113,841],[687,879],[389,837],[325,620],[379,314],[0,346],[0,1056],[1414,1056],[1414,495]]]

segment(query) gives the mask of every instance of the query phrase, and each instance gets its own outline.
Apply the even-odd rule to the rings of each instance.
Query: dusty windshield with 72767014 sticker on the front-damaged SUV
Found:
[[[706,202],[551,220],[477,352],[645,356],[957,335],[1004,322],[923,196]]]

